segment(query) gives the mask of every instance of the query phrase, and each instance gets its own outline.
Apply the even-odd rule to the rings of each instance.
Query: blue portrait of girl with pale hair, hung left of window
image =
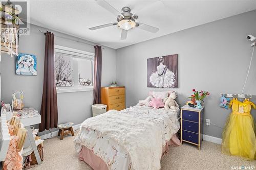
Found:
[[[36,66],[35,55],[19,53],[16,56],[16,75],[36,76]]]

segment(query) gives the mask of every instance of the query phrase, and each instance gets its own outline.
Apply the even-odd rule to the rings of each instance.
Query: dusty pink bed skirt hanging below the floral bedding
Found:
[[[162,158],[166,153],[169,152],[169,146],[172,145],[174,147],[179,147],[181,142],[177,137],[177,134],[173,135],[173,137],[166,142],[165,146],[162,150]],[[90,150],[86,147],[82,147],[81,151],[78,154],[78,158],[84,162],[86,162],[89,166],[91,166],[94,170],[108,170],[108,166],[105,162],[98,156],[93,153],[93,150]]]

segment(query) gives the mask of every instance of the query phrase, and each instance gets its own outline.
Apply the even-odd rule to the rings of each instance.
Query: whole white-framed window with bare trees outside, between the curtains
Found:
[[[94,54],[55,45],[57,92],[93,90]]]

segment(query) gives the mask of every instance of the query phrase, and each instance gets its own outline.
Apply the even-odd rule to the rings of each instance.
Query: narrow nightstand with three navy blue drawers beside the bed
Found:
[[[188,142],[198,146],[201,149],[203,140],[203,111],[185,105],[181,108],[181,143]]]

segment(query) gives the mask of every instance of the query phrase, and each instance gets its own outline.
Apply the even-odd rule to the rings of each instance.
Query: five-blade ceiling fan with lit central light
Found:
[[[159,30],[156,27],[146,25],[145,23],[137,22],[136,19],[138,19],[138,15],[131,13],[131,8],[129,7],[123,7],[122,13],[120,13],[118,10],[116,10],[114,7],[112,7],[109,3],[107,3],[104,0],[95,0],[95,2],[101,7],[108,10],[109,12],[116,15],[117,22],[107,23],[101,26],[92,27],[92,28],[89,28],[89,30],[97,30],[105,27],[117,26],[120,29],[122,29],[121,40],[126,39],[128,30],[133,29],[135,27],[138,27],[142,30],[145,30],[151,33],[156,33]]]

